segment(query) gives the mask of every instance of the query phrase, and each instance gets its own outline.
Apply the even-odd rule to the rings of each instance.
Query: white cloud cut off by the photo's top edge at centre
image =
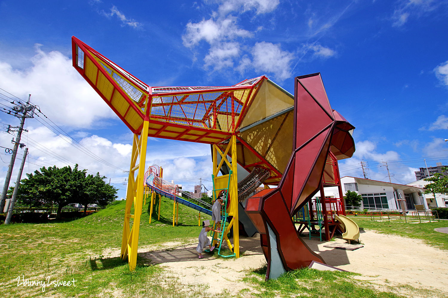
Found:
[[[219,11],[222,14],[230,12],[244,13],[249,10],[255,10],[255,13],[270,13],[280,4],[279,0],[225,0],[220,3]]]

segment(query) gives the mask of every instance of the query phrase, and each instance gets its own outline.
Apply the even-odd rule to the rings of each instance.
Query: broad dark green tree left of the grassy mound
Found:
[[[78,164],[57,168],[40,168],[26,174],[27,178],[20,181],[18,200],[28,206],[40,207],[57,205],[56,218],[60,218],[62,207],[71,203],[84,205],[84,212],[89,204],[107,205],[116,199],[113,186],[103,179],[106,177],[87,175],[87,170],[79,170]]]

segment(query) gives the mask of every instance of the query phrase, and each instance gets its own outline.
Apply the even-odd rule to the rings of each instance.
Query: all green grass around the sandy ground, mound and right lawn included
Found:
[[[141,219],[140,248],[166,242],[196,242],[201,229],[198,227],[198,212],[179,205],[179,225],[172,227],[172,201],[164,198],[160,221],[153,218],[149,224],[148,205],[144,207]],[[182,285],[177,277],[170,276],[160,265],[153,264],[142,255],[137,258],[137,269],[129,271],[127,262],[119,257],[124,209],[123,201],[72,221],[1,225],[0,297],[210,297],[207,285]],[[201,214],[201,220],[209,218]],[[368,219],[356,220],[360,227],[366,229],[397,235],[405,233],[405,236],[420,238],[431,234],[434,227],[444,226],[437,222],[403,226],[370,222]],[[433,240],[430,242],[434,245],[444,243],[446,247],[444,234],[433,234],[434,237],[442,235],[442,239],[431,236]],[[106,253],[108,250],[114,253],[109,255]],[[230,252],[223,250],[223,254],[227,253]],[[233,259],[222,260],[232,262]],[[264,281],[265,273],[266,267],[249,270],[244,278],[248,287],[233,297],[348,297],[347,293],[350,293],[349,297],[359,298],[402,297],[401,289],[386,286],[379,290],[377,285],[374,287],[367,281],[353,279],[352,273],[301,269],[286,273],[277,280]],[[36,281],[45,281],[47,277],[50,281],[74,279],[76,287],[54,288],[51,285],[42,292],[39,286],[17,286],[15,279],[22,274],[26,280]],[[408,286],[403,287],[406,287],[406,293],[414,291],[421,297],[437,297],[435,292],[427,294],[429,292],[424,290],[417,292],[415,289],[409,290]],[[232,295],[224,291],[213,294],[213,297]]]

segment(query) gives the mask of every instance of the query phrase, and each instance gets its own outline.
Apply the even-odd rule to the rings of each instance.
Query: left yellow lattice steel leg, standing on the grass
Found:
[[[128,257],[129,269],[135,270],[137,264],[138,234],[140,231],[140,217],[143,203],[143,180],[145,175],[146,145],[148,140],[149,122],[143,121],[140,138],[134,134],[132,158],[129,169],[129,186],[126,194],[125,222],[123,225],[123,238],[121,241],[121,258]],[[137,163],[137,159],[139,159]],[[135,172],[137,177],[135,177]],[[135,178],[134,178],[135,177]],[[134,205],[134,214],[130,214]],[[129,231],[130,219],[134,218],[132,229]]]

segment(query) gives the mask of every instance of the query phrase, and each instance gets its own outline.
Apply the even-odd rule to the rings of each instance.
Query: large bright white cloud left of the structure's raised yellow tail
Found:
[[[14,69],[0,61],[0,82],[8,92],[31,102],[58,125],[88,128],[101,119],[117,119],[113,111],[78,74],[72,59],[36,46],[32,66]]]

